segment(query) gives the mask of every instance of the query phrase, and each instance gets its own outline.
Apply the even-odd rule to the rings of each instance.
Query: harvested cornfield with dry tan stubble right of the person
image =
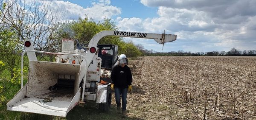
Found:
[[[130,118],[256,119],[256,57],[147,56],[129,66]]]

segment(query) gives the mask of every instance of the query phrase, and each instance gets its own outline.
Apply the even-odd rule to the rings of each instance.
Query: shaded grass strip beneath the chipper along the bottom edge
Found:
[[[87,101],[85,104],[78,104],[67,117],[57,117],[44,114],[4,111],[4,117],[0,120],[143,120],[137,117],[122,118],[116,113],[116,105],[111,105],[109,112],[100,112],[95,101]]]

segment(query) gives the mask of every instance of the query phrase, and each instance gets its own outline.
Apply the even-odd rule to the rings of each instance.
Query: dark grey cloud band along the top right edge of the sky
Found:
[[[145,6],[204,11],[211,18],[255,15],[256,0],[140,0]]]

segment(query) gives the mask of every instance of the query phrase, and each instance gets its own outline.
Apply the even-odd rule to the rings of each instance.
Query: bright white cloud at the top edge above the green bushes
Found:
[[[67,20],[77,20],[79,17],[89,17],[100,21],[104,18],[111,18],[115,15],[121,14],[121,8],[111,6],[110,0],[99,0],[98,3],[92,3],[92,6],[83,8],[69,1],[53,0],[42,1],[49,5],[49,11],[55,10],[59,14],[65,14]]]

